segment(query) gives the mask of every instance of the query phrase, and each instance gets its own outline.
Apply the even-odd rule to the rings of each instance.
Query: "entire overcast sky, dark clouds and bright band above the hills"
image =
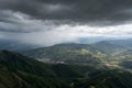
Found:
[[[53,45],[132,37],[132,0],[0,0],[0,38]]]

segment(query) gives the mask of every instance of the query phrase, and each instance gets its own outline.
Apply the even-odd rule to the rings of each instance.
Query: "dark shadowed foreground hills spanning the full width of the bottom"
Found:
[[[94,64],[44,64],[1,51],[0,88],[132,88],[132,74]]]

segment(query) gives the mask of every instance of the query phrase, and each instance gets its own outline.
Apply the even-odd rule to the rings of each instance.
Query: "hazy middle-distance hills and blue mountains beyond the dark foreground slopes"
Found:
[[[103,63],[120,66],[120,63],[132,59],[132,51],[124,45],[125,42],[121,45],[119,41],[128,41],[127,44],[131,45],[131,40],[110,40],[94,44],[65,43],[24,51],[22,54],[46,63]]]

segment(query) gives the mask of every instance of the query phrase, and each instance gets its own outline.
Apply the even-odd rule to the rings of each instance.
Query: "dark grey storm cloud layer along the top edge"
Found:
[[[132,19],[132,0],[0,0],[11,9],[43,20],[112,21]],[[127,11],[125,11],[127,10]]]

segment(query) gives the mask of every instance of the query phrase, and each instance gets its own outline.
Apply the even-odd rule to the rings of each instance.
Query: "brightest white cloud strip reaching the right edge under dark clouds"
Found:
[[[89,25],[61,25],[56,31],[66,32],[74,37],[88,36],[109,36],[109,37],[128,37],[132,36],[132,24],[116,25],[116,26],[89,26]]]

